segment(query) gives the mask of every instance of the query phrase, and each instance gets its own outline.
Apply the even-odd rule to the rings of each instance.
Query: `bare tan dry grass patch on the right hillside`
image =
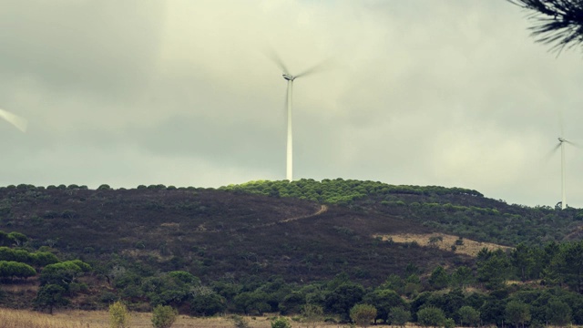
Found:
[[[390,235],[374,235],[373,237],[382,237],[384,241],[390,238],[397,243],[416,241],[421,246],[429,246],[429,239],[431,237],[441,237],[443,241],[437,241],[435,243],[435,247],[444,251],[452,251],[451,247],[452,245],[455,244],[455,241],[458,239],[457,236],[447,235],[445,233],[425,233],[425,234],[403,233]],[[455,253],[476,257],[478,251],[482,250],[485,247],[491,251],[497,249],[502,249],[506,251],[507,249],[510,249],[510,247],[498,245],[491,242],[480,242],[464,239],[463,245],[455,245],[456,248]]]

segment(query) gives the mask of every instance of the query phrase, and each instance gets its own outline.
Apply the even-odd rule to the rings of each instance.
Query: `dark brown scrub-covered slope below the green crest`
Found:
[[[383,242],[373,234],[429,233],[415,221],[311,200],[224,190],[0,190],[0,230],[30,246],[97,261],[102,270],[129,262],[148,270],[184,270],[203,281],[225,274],[280,275],[286,281],[330,279],[339,272],[372,282],[465,261],[449,251]],[[436,254],[438,253],[438,254]],[[437,255],[437,256],[436,256]],[[128,264],[124,264],[128,266]]]

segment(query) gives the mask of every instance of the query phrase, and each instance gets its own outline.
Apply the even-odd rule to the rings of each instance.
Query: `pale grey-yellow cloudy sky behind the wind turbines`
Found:
[[[557,56],[504,0],[5,0],[0,185],[219,187],[294,178],[560,200],[581,140],[583,56]],[[583,207],[583,149],[566,152]]]

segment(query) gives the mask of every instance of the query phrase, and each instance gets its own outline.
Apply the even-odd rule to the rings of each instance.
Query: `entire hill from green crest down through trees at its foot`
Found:
[[[491,311],[489,302],[533,286],[540,297],[577,302],[573,321],[583,323],[583,298],[574,298],[583,268],[573,265],[583,256],[582,218],[476,190],[343,179],[218,190],[8,186],[0,188],[0,306],[103,309],[123,299],[139,311],[170,304],[209,315],[299,313],[313,302],[346,321],[345,297],[381,302],[396,292],[416,313],[471,286],[466,303]],[[524,287],[499,293],[517,280]]]

